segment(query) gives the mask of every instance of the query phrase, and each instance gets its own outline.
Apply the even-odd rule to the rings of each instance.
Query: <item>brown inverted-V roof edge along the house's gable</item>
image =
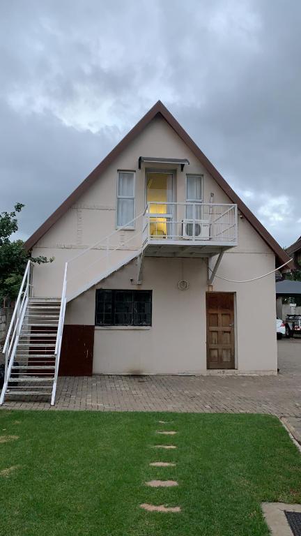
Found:
[[[104,172],[107,167],[115,160],[115,158],[121,154],[121,151],[125,149],[125,147],[128,147],[128,144],[134,140],[135,137],[137,137],[141,131],[144,130],[146,125],[154,119],[157,115],[160,115],[167,121],[169,126],[173,128],[173,131],[175,131],[178,136],[183,140],[183,142],[187,145],[187,147],[190,148],[192,153],[196,156],[196,158],[199,159],[201,164],[204,168],[208,171],[208,173],[217,181],[217,184],[222,188],[224,193],[228,195],[231,202],[236,203],[238,205],[238,210],[246,218],[247,221],[252,225],[252,227],[260,234],[260,236],[263,238],[263,240],[270,246],[272,251],[275,252],[276,255],[276,263],[277,266],[283,265],[284,262],[289,260],[288,255],[286,252],[279,246],[277,241],[271,236],[271,234],[263,227],[262,223],[258,221],[256,216],[252,214],[252,211],[248,209],[248,207],[245,205],[244,202],[238,197],[238,195],[233,191],[231,186],[225,181],[225,179],[222,177],[222,175],[217,171],[217,169],[214,167],[214,165],[208,160],[208,158],[203,154],[201,149],[197,147],[197,145],[194,143],[192,138],[185,132],[184,128],[180,126],[178,121],[173,117],[173,115],[167,110],[167,107],[162,104],[161,101],[158,101],[153,107],[151,107],[151,110],[149,110],[140,121],[138,121],[137,125],[132,128],[132,130],[123,137],[123,140],[119,142],[116,147],[103,159],[102,162],[84,179],[82,184],[79,184],[75,191],[73,191],[69,197],[59,206],[54,213],[47,218],[47,220],[43,223],[43,225],[40,225],[40,227],[34,232],[31,237],[26,241],[25,246],[27,249],[31,249],[37,241],[43,237],[43,234],[47,232],[56,221],[61,218],[61,216],[67,211],[70,207],[72,207],[72,204],[75,204],[79,197],[90,188],[90,186],[100,177],[102,172]],[[289,266],[289,265],[288,265]]]

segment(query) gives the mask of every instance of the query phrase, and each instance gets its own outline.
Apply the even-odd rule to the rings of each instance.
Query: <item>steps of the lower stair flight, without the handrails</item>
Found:
[[[59,298],[29,298],[8,375],[7,399],[52,397],[60,308]]]

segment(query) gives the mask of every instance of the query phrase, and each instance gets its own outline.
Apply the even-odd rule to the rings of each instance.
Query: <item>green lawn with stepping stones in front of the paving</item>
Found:
[[[301,502],[301,456],[275,417],[3,410],[1,435],[19,436],[0,437],[0,472],[16,467],[0,476],[1,536],[268,536],[261,501]]]

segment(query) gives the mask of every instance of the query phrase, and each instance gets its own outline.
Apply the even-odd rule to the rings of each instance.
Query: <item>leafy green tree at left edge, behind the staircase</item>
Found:
[[[0,214],[0,299],[15,299],[18,295],[26,263],[31,255],[24,248],[23,240],[10,240],[11,235],[18,230],[17,212],[24,204],[16,203],[12,212]],[[32,262],[42,264],[52,262],[54,258],[36,257]]]

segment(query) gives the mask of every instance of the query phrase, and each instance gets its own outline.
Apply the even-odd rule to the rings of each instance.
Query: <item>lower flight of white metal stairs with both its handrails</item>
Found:
[[[67,266],[61,298],[33,297],[32,262],[26,265],[2,354],[6,399],[49,400],[54,405],[65,317]]]

